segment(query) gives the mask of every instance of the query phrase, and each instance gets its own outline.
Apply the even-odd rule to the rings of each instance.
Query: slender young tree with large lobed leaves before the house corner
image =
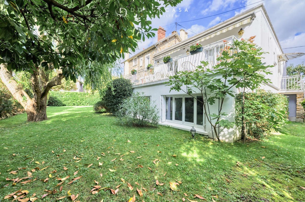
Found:
[[[213,127],[218,141],[219,134],[224,128],[232,128],[235,122],[230,122],[228,114],[223,111],[224,99],[227,96],[235,97],[237,88],[256,89],[262,82],[270,83],[265,75],[271,74],[268,70],[271,65],[265,65],[261,56],[266,52],[262,51],[253,42],[255,36],[247,40],[233,40],[232,44],[224,41],[225,47],[220,56],[216,58],[218,63],[208,68],[208,62],[201,61],[193,71],[180,71],[170,76],[168,85],[170,91],[183,91],[192,96],[200,92],[206,95],[206,103],[203,104],[205,111],[209,105],[219,102],[217,113],[206,114],[206,120]],[[195,98],[197,99],[197,98]],[[201,102],[197,99],[197,101]]]

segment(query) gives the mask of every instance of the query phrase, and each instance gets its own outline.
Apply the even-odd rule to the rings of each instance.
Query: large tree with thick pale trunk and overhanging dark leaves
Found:
[[[80,62],[104,65],[124,58],[138,40],[155,36],[148,19],[181,0],[0,2],[0,78],[25,108],[27,121],[41,121],[47,119],[48,91],[64,77],[75,82]],[[49,70],[56,70],[56,76],[49,78]],[[14,80],[13,71],[30,73],[33,98]]]

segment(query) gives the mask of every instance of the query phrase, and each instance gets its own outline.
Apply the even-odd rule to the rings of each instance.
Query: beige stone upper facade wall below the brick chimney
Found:
[[[164,50],[170,46],[173,46],[174,44],[179,43],[178,37],[177,35],[175,35],[174,37],[170,37],[168,39],[165,39],[164,41],[158,43],[156,46],[158,47],[158,50]],[[148,64],[145,63],[145,56],[149,54],[149,64],[155,64],[155,59],[154,59],[154,55],[155,53],[158,52],[158,50],[156,49],[156,47],[153,47],[152,49],[142,53],[141,55],[139,55],[137,57],[137,64],[134,66],[133,65],[133,59],[131,59],[129,61],[129,65],[128,65],[128,72],[126,74],[130,74],[131,70],[135,69],[137,71],[142,70],[144,68],[146,68],[146,66]],[[142,66],[140,66],[140,58],[142,58],[143,63]],[[161,62],[161,61],[160,61]]]

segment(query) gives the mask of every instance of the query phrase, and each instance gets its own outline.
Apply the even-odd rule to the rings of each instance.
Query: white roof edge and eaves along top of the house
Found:
[[[270,27],[272,29],[272,32],[273,32],[273,34],[275,36],[275,39],[276,39],[276,41],[278,43],[279,49],[283,53],[281,44],[280,44],[280,42],[278,40],[278,37],[275,34],[275,31],[274,31],[274,28],[273,28],[273,26],[271,24],[269,16],[267,15],[267,11],[266,11],[264,5],[260,4],[260,5],[257,5],[257,6],[255,6],[253,8],[251,8],[251,9],[246,10],[245,12],[242,12],[242,13],[240,13],[238,15],[235,15],[234,17],[231,17],[231,18],[225,20],[224,22],[221,22],[221,23],[219,23],[219,24],[217,24],[217,25],[215,25],[215,26],[213,26],[213,27],[211,27],[209,29],[206,29],[206,30],[204,30],[203,32],[201,32],[199,34],[196,34],[196,35],[194,35],[194,36],[192,36],[192,37],[190,37],[188,39],[185,39],[185,40],[183,40],[183,41],[181,41],[179,43],[174,44],[173,46],[170,46],[170,47],[168,47],[168,48],[166,48],[166,49],[164,49],[164,50],[162,50],[160,52],[157,52],[155,54],[155,59],[160,57],[160,56],[162,56],[165,53],[168,54],[168,52],[171,52],[171,51],[173,51],[175,49],[181,48],[182,46],[189,45],[193,41],[198,40],[200,38],[203,38],[204,36],[211,35],[211,34],[217,32],[217,31],[219,31],[220,29],[224,29],[228,25],[231,25],[233,23],[239,22],[241,19],[245,19],[246,17],[249,17],[250,15],[255,16],[254,11],[257,10],[258,8],[260,8],[260,7],[262,8],[264,14],[266,15],[267,21],[268,21],[268,23],[269,23],[269,25],[270,25]]]

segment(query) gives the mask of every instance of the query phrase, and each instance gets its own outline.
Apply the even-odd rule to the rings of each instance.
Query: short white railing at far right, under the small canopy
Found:
[[[303,90],[304,81],[302,75],[282,77],[281,90]]]

